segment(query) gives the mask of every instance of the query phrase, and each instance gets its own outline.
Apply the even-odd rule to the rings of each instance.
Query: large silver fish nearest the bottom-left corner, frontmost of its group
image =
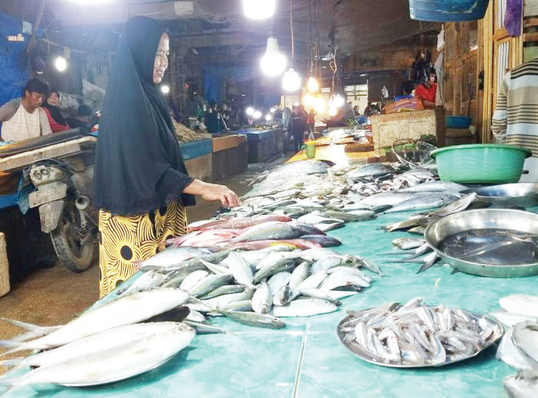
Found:
[[[155,326],[153,333],[138,339],[124,335],[123,338],[128,343],[116,338],[113,347],[111,342],[99,339],[99,335],[87,337],[94,342],[101,341],[108,349],[103,349],[100,343],[93,343],[89,348],[84,340],[82,343],[80,340],[73,341],[71,350],[67,346],[57,349],[70,357],[67,361],[31,370],[14,381],[8,389],[39,383],[89,386],[127,379],[162,365],[187,347],[196,335],[193,328],[183,323],[157,323],[151,326]],[[151,326],[140,328],[149,329]],[[82,354],[75,355],[73,345]],[[129,366],[125,366],[126,363]]]

